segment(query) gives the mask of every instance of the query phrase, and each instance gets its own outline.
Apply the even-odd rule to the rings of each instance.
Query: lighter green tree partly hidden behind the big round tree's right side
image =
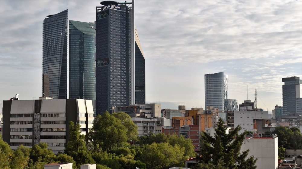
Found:
[[[137,141],[137,125],[131,120],[131,117],[124,112],[117,112],[112,114],[115,118],[119,119],[121,124],[126,127],[128,141]]]

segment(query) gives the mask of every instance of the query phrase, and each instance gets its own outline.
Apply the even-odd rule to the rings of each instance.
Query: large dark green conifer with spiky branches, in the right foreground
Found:
[[[246,159],[249,150],[240,154],[241,145],[247,134],[247,131],[238,134],[240,129],[241,127],[237,126],[230,134],[226,134],[226,127],[220,118],[215,128],[215,137],[202,132],[200,163],[232,169],[255,169],[257,159],[253,156]]]

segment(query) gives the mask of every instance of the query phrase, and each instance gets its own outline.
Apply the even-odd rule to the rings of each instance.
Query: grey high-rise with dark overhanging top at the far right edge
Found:
[[[300,84],[302,80],[299,77],[293,76],[282,78],[282,103],[283,114],[297,112],[297,99],[300,98]]]

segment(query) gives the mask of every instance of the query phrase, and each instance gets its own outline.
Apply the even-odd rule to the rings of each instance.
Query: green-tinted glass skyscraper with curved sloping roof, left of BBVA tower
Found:
[[[69,99],[92,100],[95,109],[94,23],[69,20]]]

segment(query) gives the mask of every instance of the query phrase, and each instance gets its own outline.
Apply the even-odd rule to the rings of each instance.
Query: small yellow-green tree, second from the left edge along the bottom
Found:
[[[21,169],[28,166],[30,148],[24,147],[23,145],[18,146],[12,156],[10,167],[11,169]]]

